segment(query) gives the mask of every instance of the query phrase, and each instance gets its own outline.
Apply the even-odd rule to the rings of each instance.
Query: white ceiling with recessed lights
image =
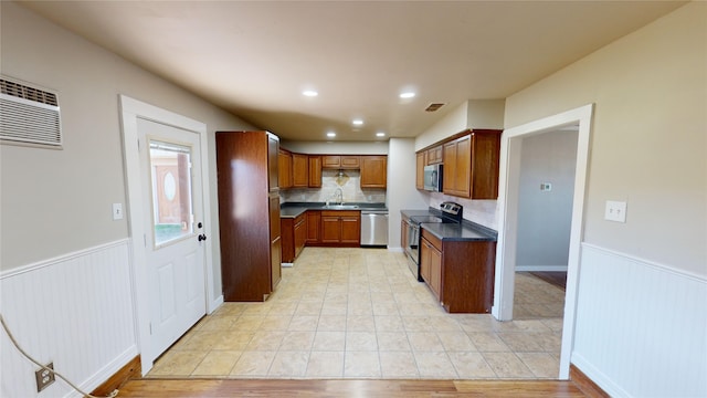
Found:
[[[505,98],[683,3],[21,2],[293,140],[416,136],[466,100]],[[407,88],[418,96],[400,100]],[[446,105],[424,112],[436,102]]]

